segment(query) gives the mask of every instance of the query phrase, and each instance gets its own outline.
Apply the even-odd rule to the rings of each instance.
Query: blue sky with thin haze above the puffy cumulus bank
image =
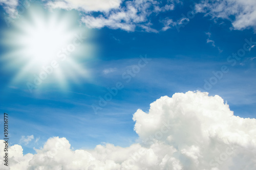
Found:
[[[115,1],[117,5],[114,3],[113,8],[104,10],[100,6],[99,9],[87,5],[79,8],[79,4],[72,5],[71,1],[66,1],[66,6],[55,1],[35,2],[24,13],[18,12],[22,18],[14,19],[8,27],[5,17],[16,17],[10,9],[15,11],[22,2],[13,5],[0,1],[0,109],[2,113],[9,113],[11,144],[22,145],[24,154],[35,153],[33,148],[39,149],[53,136],[66,137],[74,149],[92,149],[102,143],[127,147],[138,140],[132,119],[136,110],[148,111],[152,102],[176,92],[202,90],[209,95],[217,94],[227,102],[234,115],[256,118],[256,50],[253,46],[256,44],[256,26],[253,18],[248,19],[245,25],[239,20],[239,13],[218,13],[214,11],[218,4],[212,2],[204,6],[205,10],[200,10],[198,1],[159,1],[159,7],[173,5],[168,6],[173,9],[149,14],[156,10],[154,3],[150,3],[147,10],[130,16],[127,10],[129,2],[132,1]],[[132,5],[136,6],[136,3]],[[33,82],[34,74],[42,71],[40,64],[49,65],[33,63],[23,71],[31,57],[26,58],[27,52],[20,50],[26,44],[19,37],[26,39],[24,30],[27,33],[31,31],[26,23],[33,22],[28,19],[33,8],[41,8],[42,14],[48,17],[46,21],[52,15],[72,15],[73,19],[62,17],[59,20],[65,20],[67,26],[72,26],[68,30],[72,35],[82,33],[87,38],[68,56],[71,59],[60,65],[60,75],[54,72],[30,92],[27,82]],[[108,12],[117,14],[118,10],[125,8],[125,16],[131,18],[123,18],[120,22],[110,19]],[[190,19],[187,16],[189,11],[194,14]],[[42,19],[40,15],[35,14],[34,17]],[[92,21],[92,18],[100,17],[111,21]],[[136,21],[136,17],[144,19]],[[182,22],[181,19],[185,20]],[[167,20],[170,24],[165,30]],[[250,50],[243,50],[243,57],[232,65],[234,61],[228,62],[227,58],[244,49],[245,39],[252,41],[246,45]],[[145,66],[126,82],[128,78],[124,79],[122,75],[129,75],[127,71],[134,66],[138,68],[140,56],[151,60],[144,62]],[[205,80],[209,82],[215,77],[212,71],[220,71],[223,65],[228,71],[222,72],[222,78],[216,79],[217,83],[210,89],[205,89]],[[14,81],[22,71],[22,76]],[[95,113],[92,105],[98,106],[99,96],[104,97],[109,92],[108,88],[116,87],[117,82],[123,88]],[[28,143],[21,140],[22,136],[27,138],[30,135],[34,138]]]

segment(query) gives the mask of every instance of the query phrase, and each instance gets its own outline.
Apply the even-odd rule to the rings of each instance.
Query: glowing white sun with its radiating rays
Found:
[[[75,18],[77,16],[72,12],[49,12],[34,7],[13,23],[13,27],[5,33],[6,39],[2,41],[12,48],[4,58],[10,60],[9,69],[18,69],[14,82],[27,77],[27,81],[34,83],[35,87],[38,86],[38,80],[33,79],[38,78],[42,82],[47,81],[46,76],[54,76],[53,79],[63,86],[67,76],[75,78],[77,73],[87,76],[87,71],[74,56],[78,51],[81,53],[79,48],[89,54],[89,48],[85,45],[90,45],[78,38],[85,31],[81,31]]]

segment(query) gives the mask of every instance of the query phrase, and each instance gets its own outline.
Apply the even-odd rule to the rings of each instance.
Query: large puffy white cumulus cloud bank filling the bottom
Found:
[[[207,92],[162,96],[133,120],[140,143],[122,148],[97,145],[71,150],[66,138],[48,139],[36,154],[10,153],[11,169],[256,169],[256,119],[234,116],[218,96]],[[3,140],[0,148],[4,147]],[[3,151],[1,150],[3,159]],[[0,161],[3,167],[3,161]]]

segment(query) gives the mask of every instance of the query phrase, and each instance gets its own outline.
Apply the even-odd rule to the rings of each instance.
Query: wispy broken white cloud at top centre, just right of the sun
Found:
[[[127,1],[125,5],[112,10],[109,13],[101,14],[97,17],[93,15],[84,15],[81,21],[89,28],[109,27],[111,29],[122,29],[125,31],[135,31],[138,27],[146,32],[158,32],[151,28],[152,23],[149,17],[159,12],[171,11],[174,4],[170,3],[161,6],[158,1]]]

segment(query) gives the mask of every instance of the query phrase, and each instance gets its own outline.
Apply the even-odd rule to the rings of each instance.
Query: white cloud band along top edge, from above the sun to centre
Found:
[[[103,3],[100,3],[103,2]],[[179,3],[179,2],[176,2]],[[84,11],[81,21],[88,28],[108,27],[111,29],[122,29],[125,31],[135,31],[139,28],[146,32],[158,32],[152,28],[150,16],[157,15],[160,12],[174,10],[174,2],[168,1],[168,4],[161,5],[154,0],[133,0],[121,1],[55,1],[47,4],[50,8],[77,9]],[[90,12],[100,11],[100,15],[93,16]]]

